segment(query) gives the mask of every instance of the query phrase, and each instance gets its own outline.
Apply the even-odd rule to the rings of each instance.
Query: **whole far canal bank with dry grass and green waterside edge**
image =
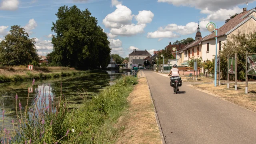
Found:
[[[23,82],[28,80],[45,80],[48,78],[59,78],[86,74],[90,71],[80,71],[68,67],[34,67],[34,70],[27,70],[26,66],[1,66],[0,83]]]

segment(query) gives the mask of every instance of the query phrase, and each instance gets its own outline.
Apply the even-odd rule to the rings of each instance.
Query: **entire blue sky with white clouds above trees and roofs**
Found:
[[[256,0],[247,0],[248,10]],[[128,56],[132,50],[161,50],[176,40],[210,34],[208,22],[218,27],[230,15],[242,12],[246,0],[0,0],[0,41],[13,25],[22,26],[36,38],[39,55],[53,49],[52,22],[60,6],[88,8],[110,41],[112,54]]]

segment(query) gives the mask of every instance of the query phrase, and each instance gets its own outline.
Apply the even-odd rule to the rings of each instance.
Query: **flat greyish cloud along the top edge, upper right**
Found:
[[[247,0],[247,2],[254,2],[255,0]],[[219,9],[229,9],[237,6],[239,4],[244,4],[245,0],[158,0],[158,2],[167,2],[173,4],[174,6],[189,6],[195,7],[197,9],[203,10],[208,8],[208,10],[219,10]],[[241,11],[242,12],[242,11]]]

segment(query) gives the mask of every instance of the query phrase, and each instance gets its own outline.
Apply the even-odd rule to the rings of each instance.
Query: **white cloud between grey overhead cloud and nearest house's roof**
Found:
[[[208,14],[208,16],[206,18],[204,18],[204,20],[213,20],[213,21],[224,21],[228,18],[230,18],[228,15],[233,16],[236,13],[240,13],[242,12],[242,8],[238,8],[237,6],[234,7],[233,9],[222,9],[220,8],[217,11],[211,11],[208,10],[208,8],[205,8],[203,10],[201,10],[202,14]]]

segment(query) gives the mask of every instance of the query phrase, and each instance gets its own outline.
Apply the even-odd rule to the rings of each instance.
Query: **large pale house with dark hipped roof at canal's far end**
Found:
[[[148,56],[151,57],[151,54],[147,50],[133,50],[133,52],[129,54],[129,68],[131,68],[132,64],[142,66],[144,64],[144,58]]]

